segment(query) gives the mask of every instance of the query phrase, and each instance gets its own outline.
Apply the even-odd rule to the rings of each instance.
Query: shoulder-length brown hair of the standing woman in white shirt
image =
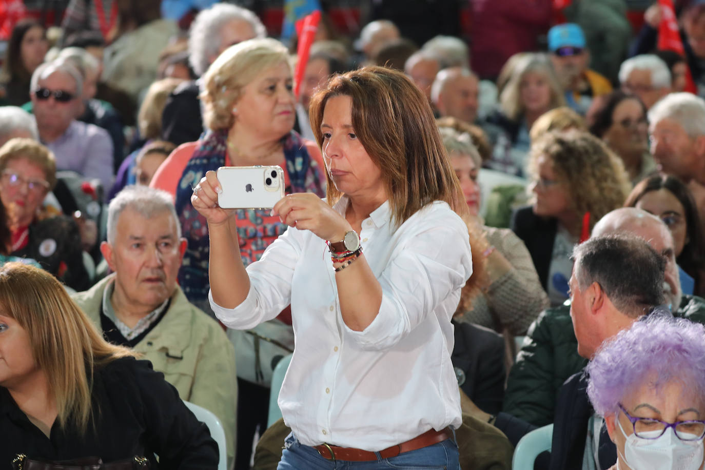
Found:
[[[428,100],[401,72],[369,66],[335,75],[312,97],[309,116],[319,147],[326,102],[337,96],[353,101],[353,128],[374,164],[398,225],[436,200],[460,214],[467,211],[460,183],[450,165]],[[327,198],[335,204],[343,195],[328,177]]]

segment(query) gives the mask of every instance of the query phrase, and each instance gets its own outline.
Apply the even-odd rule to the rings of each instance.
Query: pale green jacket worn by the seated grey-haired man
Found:
[[[103,292],[115,274],[71,297],[101,330]],[[238,381],[235,350],[223,328],[188,302],[180,287],[171,296],[164,317],[137,343],[135,351],[164,373],[182,400],[210,410],[225,429],[228,461],[234,455]],[[175,359],[183,358],[183,359]]]

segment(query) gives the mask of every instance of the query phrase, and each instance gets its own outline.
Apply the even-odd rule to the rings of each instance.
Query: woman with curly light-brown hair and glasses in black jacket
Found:
[[[551,305],[568,299],[570,253],[592,225],[622,206],[631,185],[621,159],[587,132],[548,132],[532,145],[531,206],[512,230],[524,241]]]

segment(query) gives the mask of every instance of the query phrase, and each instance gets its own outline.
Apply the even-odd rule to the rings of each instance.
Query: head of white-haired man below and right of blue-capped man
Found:
[[[658,56],[642,54],[622,63],[619,82],[625,92],[637,95],[651,109],[670,92],[670,70]]]

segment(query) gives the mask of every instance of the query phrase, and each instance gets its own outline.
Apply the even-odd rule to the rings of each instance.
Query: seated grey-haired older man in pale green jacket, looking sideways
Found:
[[[119,192],[100,248],[113,273],[73,299],[106,340],[142,354],[182,400],[218,416],[232,461],[235,352],[221,326],[176,284],[186,240],[171,195],[145,186]]]

